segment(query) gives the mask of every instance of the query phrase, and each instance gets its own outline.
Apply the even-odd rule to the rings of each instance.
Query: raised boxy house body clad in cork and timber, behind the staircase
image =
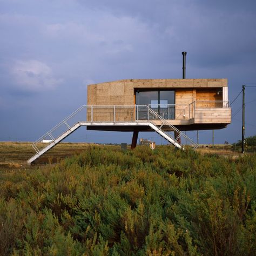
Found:
[[[148,106],[180,130],[221,129],[231,123],[227,79],[125,79],[87,86],[93,120],[143,120]],[[115,113],[100,106],[116,106]],[[90,118],[90,113],[87,114]],[[147,116],[149,118],[149,116]],[[120,130],[124,127],[90,127]]]

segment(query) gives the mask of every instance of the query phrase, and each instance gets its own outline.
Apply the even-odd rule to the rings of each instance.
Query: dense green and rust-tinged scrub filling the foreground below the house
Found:
[[[1,170],[0,252],[255,255],[255,184],[256,154],[87,146]]]

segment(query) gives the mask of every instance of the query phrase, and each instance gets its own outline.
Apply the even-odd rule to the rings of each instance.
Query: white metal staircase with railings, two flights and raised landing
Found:
[[[68,137],[72,132],[76,131],[80,126],[93,125],[130,125],[130,126],[150,126],[153,131],[156,131],[161,137],[168,142],[184,149],[178,141],[179,138],[186,139],[193,149],[197,149],[197,143],[179,131],[175,126],[170,124],[166,119],[161,117],[157,112],[153,111],[146,105],[134,106],[81,106],[75,112],[70,114],[62,122],[46,132],[41,138],[32,144],[36,154],[27,160],[30,165],[38,157],[52,149],[63,139]],[[172,132],[178,134],[173,138]],[[45,145],[44,140],[48,142]]]

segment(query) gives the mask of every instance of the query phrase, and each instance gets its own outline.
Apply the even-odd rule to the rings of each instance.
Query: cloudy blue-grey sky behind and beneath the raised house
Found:
[[[252,0],[0,0],[0,140],[36,140],[86,104],[87,84],[181,78],[182,51],[187,78],[227,78],[233,100],[256,85],[255,13]],[[255,106],[256,87],[246,87],[246,137]],[[233,114],[240,107],[241,96]],[[139,135],[152,136],[160,142]],[[241,111],[215,143],[240,137]],[[71,139],[129,143],[131,133],[80,129]]]

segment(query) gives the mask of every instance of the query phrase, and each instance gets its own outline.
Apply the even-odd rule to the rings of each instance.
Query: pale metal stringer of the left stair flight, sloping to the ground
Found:
[[[47,152],[48,150],[52,149],[52,147],[56,146],[58,143],[60,143],[63,139],[65,139],[66,137],[68,137],[72,132],[75,132],[79,127],[80,127],[80,123],[76,123],[75,125],[73,125],[72,127],[70,127],[70,129],[66,130],[63,134],[61,134],[58,138],[56,138],[55,140],[53,140],[53,142],[51,142],[49,145],[47,145],[46,147],[44,147],[42,150],[39,150],[34,156],[32,156],[31,158],[29,158],[29,160],[27,160],[26,162],[28,163],[28,165],[31,165],[31,163],[33,161],[35,161],[38,157],[42,156],[42,154],[44,154],[45,152]]]

